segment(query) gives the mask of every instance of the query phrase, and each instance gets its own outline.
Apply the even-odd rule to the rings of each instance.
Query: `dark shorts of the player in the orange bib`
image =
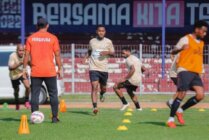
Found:
[[[178,74],[178,91],[187,91],[192,89],[193,86],[203,87],[202,80],[198,73],[182,71]]]

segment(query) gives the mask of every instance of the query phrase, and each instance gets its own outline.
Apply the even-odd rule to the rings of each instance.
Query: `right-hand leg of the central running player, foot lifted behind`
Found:
[[[105,93],[107,90],[108,73],[100,72],[99,83],[100,83],[100,101],[105,101]]]

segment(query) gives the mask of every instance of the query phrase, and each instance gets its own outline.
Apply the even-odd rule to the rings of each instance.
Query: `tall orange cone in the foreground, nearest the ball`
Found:
[[[26,115],[21,116],[20,127],[18,130],[18,134],[30,134],[30,130],[28,127],[28,119]]]

